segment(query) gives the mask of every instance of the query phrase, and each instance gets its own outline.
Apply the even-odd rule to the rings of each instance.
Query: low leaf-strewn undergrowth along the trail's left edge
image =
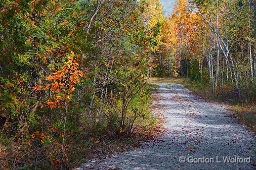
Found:
[[[66,122],[65,169],[78,167],[92,158],[103,158],[114,151],[122,152],[131,147],[140,146],[142,141],[155,138],[160,134],[158,118],[151,114],[150,91],[157,86],[145,85],[143,102],[145,115],[143,121],[129,136],[116,136],[109,125],[98,123],[92,126],[86,117],[70,117]],[[130,106],[137,106],[133,105]],[[58,169],[61,165],[63,121],[59,115],[30,126],[25,136],[0,133],[0,169]]]

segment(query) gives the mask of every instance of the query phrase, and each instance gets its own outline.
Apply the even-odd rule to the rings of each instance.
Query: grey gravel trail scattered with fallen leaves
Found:
[[[166,117],[162,139],[88,162],[79,169],[254,169],[254,135],[236,123],[236,119],[227,117],[229,113],[224,106],[200,99],[179,84],[158,85],[159,90],[154,91],[158,100],[153,106],[155,112]],[[185,163],[179,161],[181,156],[186,157]],[[190,156],[211,158],[214,162],[189,163]],[[217,156],[220,163],[216,162]],[[223,156],[250,156],[251,163],[224,163]]]

